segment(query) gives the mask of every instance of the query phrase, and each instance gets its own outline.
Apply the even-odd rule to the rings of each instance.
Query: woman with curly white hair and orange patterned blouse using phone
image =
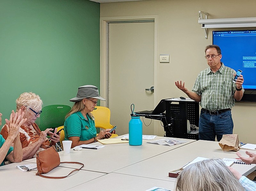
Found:
[[[27,118],[27,121],[20,126],[20,142],[23,151],[22,160],[36,157],[36,152],[47,149],[60,140],[60,136],[56,134],[57,128],[54,131],[55,133],[51,132],[53,129],[41,131],[35,123],[36,119],[42,113],[42,104],[43,101],[41,98],[32,92],[22,93],[16,99],[17,111],[21,109],[25,113],[23,118]],[[46,137],[47,134],[51,136],[50,139]],[[8,137],[6,125],[2,128],[1,135],[4,138]]]

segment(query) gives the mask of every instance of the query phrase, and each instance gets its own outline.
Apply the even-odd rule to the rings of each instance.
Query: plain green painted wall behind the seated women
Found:
[[[72,106],[79,86],[100,86],[100,4],[0,0],[0,72],[3,124],[23,92]]]

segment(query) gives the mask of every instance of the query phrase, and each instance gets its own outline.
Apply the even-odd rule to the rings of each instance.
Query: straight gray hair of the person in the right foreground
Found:
[[[221,159],[207,159],[187,166],[177,177],[178,191],[244,191]]]

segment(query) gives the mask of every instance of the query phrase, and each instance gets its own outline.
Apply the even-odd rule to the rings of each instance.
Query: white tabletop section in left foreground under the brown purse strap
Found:
[[[48,179],[36,176],[36,171],[22,172],[17,165],[26,165],[27,162],[12,163],[0,167],[2,190],[26,190],[26,191],[45,191],[45,190],[67,190],[90,180],[96,179],[105,173],[80,170],[72,173],[64,179]],[[56,167],[47,176],[65,176],[73,169]],[[85,190],[85,189],[84,189]]]

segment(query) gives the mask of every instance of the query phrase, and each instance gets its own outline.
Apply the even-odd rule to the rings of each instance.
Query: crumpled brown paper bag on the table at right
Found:
[[[235,134],[223,135],[222,139],[219,142],[219,145],[223,151],[240,150],[238,135]]]

